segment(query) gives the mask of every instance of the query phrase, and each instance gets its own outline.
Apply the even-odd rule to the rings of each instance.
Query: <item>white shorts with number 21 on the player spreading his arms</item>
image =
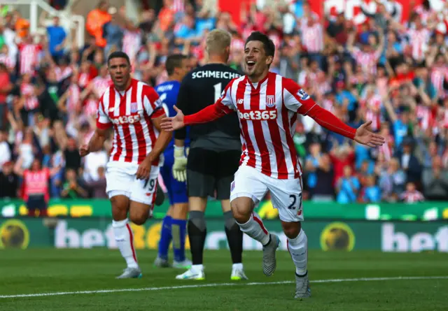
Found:
[[[250,166],[239,166],[230,186],[230,201],[246,196],[257,204],[267,191],[271,192],[274,208],[283,222],[302,222],[302,178],[276,179]]]

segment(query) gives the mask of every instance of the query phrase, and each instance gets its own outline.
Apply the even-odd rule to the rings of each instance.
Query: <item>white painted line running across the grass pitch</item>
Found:
[[[356,279],[328,279],[314,280],[311,283],[338,283],[338,282],[373,282],[373,281],[394,281],[394,280],[447,280],[447,276],[434,277],[359,277]],[[164,289],[195,289],[200,287],[230,287],[230,286],[253,286],[253,285],[274,285],[274,284],[292,284],[294,281],[280,282],[249,282],[249,283],[211,283],[211,284],[194,284],[180,285],[169,287],[144,287],[140,289],[100,289],[98,291],[58,291],[55,293],[43,294],[20,294],[20,295],[2,295],[0,298],[29,298],[29,297],[48,297],[48,296],[64,296],[64,295],[80,295],[80,294],[108,294],[120,293],[124,291],[162,291]]]

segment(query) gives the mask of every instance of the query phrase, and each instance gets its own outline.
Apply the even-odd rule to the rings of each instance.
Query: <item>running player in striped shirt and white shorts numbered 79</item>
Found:
[[[113,128],[113,148],[107,164],[106,192],[112,203],[113,233],[127,268],[118,278],[141,277],[127,220],[141,225],[152,215],[162,152],[172,135],[161,131],[165,116],[153,87],[130,76],[130,59],[113,52],[108,59],[113,85],[99,99],[97,129],[80,155],[101,150]]]

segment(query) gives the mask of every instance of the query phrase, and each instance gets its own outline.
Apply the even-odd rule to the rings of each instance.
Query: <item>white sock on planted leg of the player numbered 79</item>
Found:
[[[112,221],[113,235],[120,249],[121,256],[126,260],[128,268],[139,268],[137,263],[137,255],[134,249],[134,236],[127,219],[116,222]]]

